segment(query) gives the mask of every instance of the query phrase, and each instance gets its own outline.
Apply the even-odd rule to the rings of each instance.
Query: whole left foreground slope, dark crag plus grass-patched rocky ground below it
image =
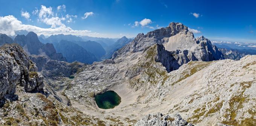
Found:
[[[44,79],[20,45],[13,43],[0,47],[1,126],[115,124],[114,121],[107,121],[109,117],[94,117],[83,114],[74,107],[68,107],[44,83]]]

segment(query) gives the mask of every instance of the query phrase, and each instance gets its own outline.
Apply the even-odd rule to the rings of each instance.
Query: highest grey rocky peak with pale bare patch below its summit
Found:
[[[169,57],[174,57],[179,66],[195,60],[213,61],[224,59],[222,53],[216,46],[212,45],[209,39],[204,36],[195,38],[194,34],[181,23],[170,23],[166,28],[150,31],[145,35],[143,33],[138,34],[133,42],[116,51],[112,59],[122,59],[122,57],[127,57],[135,52],[141,52],[155,43],[163,45],[165,50],[169,51],[168,55],[172,55],[166,58],[162,57],[162,59],[172,60]],[[168,72],[178,69],[177,65],[170,66],[172,62],[158,61],[164,62],[163,65]]]

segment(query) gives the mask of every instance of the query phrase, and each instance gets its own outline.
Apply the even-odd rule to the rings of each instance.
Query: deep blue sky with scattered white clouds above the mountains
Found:
[[[97,37],[135,37],[138,33],[166,27],[170,22],[180,22],[194,29],[195,36],[256,43],[256,1],[252,0],[1,0],[0,5],[0,26],[3,25],[0,32],[7,34],[13,34],[8,30],[18,27],[35,29],[38,34],[56,31]],[[51,8],[50,14],[40,17],[42,6]],[[33,14],[35,10],[38,13]]]

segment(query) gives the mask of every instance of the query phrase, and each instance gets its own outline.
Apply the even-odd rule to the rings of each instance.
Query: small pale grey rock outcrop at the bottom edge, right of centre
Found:
[[[163,115],[162,113],[148,114],[139,120],[135,126],[194,126],[183,120],[179,114]]]

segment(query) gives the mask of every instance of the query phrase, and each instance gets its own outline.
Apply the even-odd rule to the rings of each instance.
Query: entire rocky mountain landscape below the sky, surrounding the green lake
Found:
[[[146,34],[139,33],[134,39],[122,37],[105,43],[106,46],[99,46],[97,40],[84,42],[91,37],[63,40],[66,35],[59,36],[52,36],[56,38],[52,41],[41,36],[50,42],[43,44],[33,32],[17,35],[14,42],[0,34],[1,124],[256,123],[256,56],[247,55],[251,52],[218,48],[206,37],[195,37],[187,26],[174,22]],[[86,45],[101,47],[106,57],[112,56],[94,62],[104,51],[90,50]],[[42,55],[49,54],[49,48],[61,52],[70,63]],[[121,102],[104,110],[96,104],[95,96],[108,90],[116,92]]]

